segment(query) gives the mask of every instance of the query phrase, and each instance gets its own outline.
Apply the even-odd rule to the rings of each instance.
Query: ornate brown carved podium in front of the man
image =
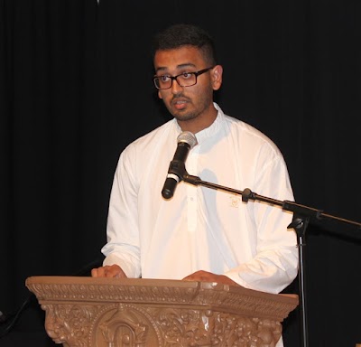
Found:
[[[28,277],[45,330],[65,347],[273,347],[298,295],[210,282]]]

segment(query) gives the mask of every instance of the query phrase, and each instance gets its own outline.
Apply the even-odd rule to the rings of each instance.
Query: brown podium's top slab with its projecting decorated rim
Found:
[[[42,305],[82,302],[197,306],[247,315],[275,315],[282,321],[299,304],[298,295],[276,295],[216,282],[41,276],[28,277],[25,285]]]

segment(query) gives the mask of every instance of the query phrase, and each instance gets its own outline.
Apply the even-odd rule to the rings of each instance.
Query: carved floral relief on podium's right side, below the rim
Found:
[[[280,339],[279,322],[225,314],[212,310],[152,308],[162,330],[164,346],[274,346]]]

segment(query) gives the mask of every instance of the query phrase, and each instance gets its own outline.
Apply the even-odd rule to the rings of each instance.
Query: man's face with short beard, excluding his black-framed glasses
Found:
[[[174,50],[158,51],[154,56],[154,68],[157,76],[176,76],[183,72],[195,72],[210,66],[204,60],[198,48],[184,46]],[[170,89],[159,89],[158,96],[162,98],[171,115],[179,121],[194,120],[198,117],[208,117],[213,108],[213,90],[215,87],[214,68],[197,77],[197,83],[190,87],[180,87],[172,80]]]

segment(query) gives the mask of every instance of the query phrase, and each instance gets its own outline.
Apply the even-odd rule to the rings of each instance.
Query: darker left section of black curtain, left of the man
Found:
[[[3,314],[28,299],[26,277],[77,274],[100,258],[111,174],[97,42],[96,0],[0,1]]]

